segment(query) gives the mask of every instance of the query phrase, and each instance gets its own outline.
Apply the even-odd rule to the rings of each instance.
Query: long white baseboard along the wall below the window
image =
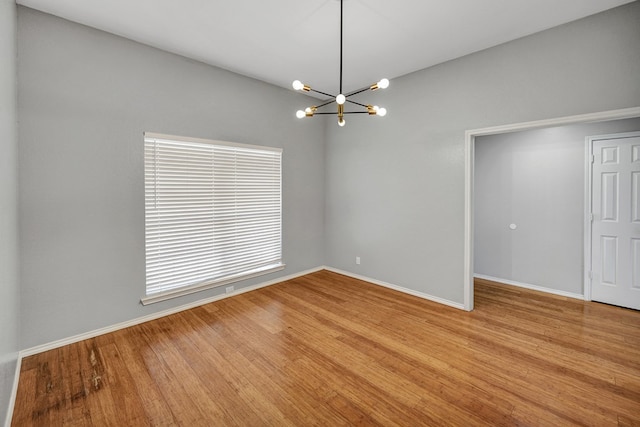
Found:
[[[151,320],[155,320],[155,319],[159,319],[161,317],[165,317],[165,316],[169,316],[171,314],[175,314],[175,313],[179,313],[181,311],[185,311],[185,310],[189,310],[191,308],[195,308],[195,307],[199,307],[201,305],[205,305],[205,304],[209,304],[211,302],[215,302],[215,301],[220,301],[222,299],[225,298],[229,298],[235,295],[240,295],[243,294],[245,292],[251,292],[254,291],[256,289],[260,289],[260,288],[264,288],[267,286],[271,286],[271,285],[275,285],[276,283],[280,283],[280,282],[284,282],[287,280],[291,280],[291,279],[295,279],[296,277],[300,277],[300,276],[304,276],[306,274],[310,274],[310,273],[315,273],[316,271],[320,271],[322,270],[324,267],[316,267],[316,268],[312,268],[310,270],[306,270],[306,271],[301,271],[295,274],[291,274],[285,277],[279,277],[277,279],[274,280],[270,280],[268,282],[263,282],[263,283],[259,283],[257,285],[252,285],[252,286],[247,286],[245,288],[240,288],[240,289],[236,289],[233,292],[230,292],[228,294],[221,294],[221,295],[216,295],[210,298],[205,298],[205,299],[201,299],[198,301],[194,301],[192,303],[189,304],[184,304],[178,307],[173,307],[167,310],[162,310],[159,311],[157,313],[152,313],[146,316],[142,316],[142,317],[138,317],[136,319],[131,319],[131,320],[127,320],[125,322],[121,322],[121,323],[117,323],[115,325],[111,325],[111,326],[106,326],[104,328],[100,328],[100,329],[95,329],[93,331],[89,331],[89,332],[85,332],[79,335],[74,335],[72,337],[68,337],[68,338],[63,338],[60,340],[56,340],[56,341],[52,341],[46,344],[42,344],[42,345],[38,345],[35,347],[31,347],[31,348],[27,348],[25,350],[20,351],[19,353],[19,359],[22,359],[23,357],[27,357],[27,356],[32,356],[34,354],[38,354],[38,353],[42,353],[48,350],[53,350],[55,348],[59,348],[65,345],[69,345],[69,344],[73,344],[76,342],[80,342],[89,338],[95,338],[97,336],[100,335],[104,335],[104,334],[108,334],[110,332],[115,332],[118,331],[120,329],[124,329],[124,328],[128,328],[131,326],[135,326],[135,325],[139,325],[141,323],[145,323],[145,322],[149,322]]]

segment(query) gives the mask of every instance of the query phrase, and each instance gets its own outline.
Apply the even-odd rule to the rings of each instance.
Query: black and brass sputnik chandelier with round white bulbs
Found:
[[[372,84],[371,86],[367,86],[362,89],[349,92],[347,94],[342,93],[342,2],[343,0],[340,0],[340,92],[338,93],[338,95],[332,95],[330,93],[321,92],[319,90],[312,89],[310,86],[305,85],[300,80],[295,80],[293,82],[293,88],[295,90],[302,90],[304,92],[315,92],[320,95],[329,97],[328,99],[324,100],[320,105],[313,105],[311,107],[307,107],[305,110],[298,110],[296,112],[296,117],[298,117],[299,119],[303,117],[313,117],[316,114],[337,114],[338,125],[344,126],[345,114],[369,114],[370,116],[380,116],[380,117],[387,114],[386,108],[378,107],[377,105],[361,104],[352,99],[349,99],[350,97],[357,95],[359,93],[365,92],[367,90],[386,89],[387,87],[389,87],[389,80],[387,79],[382,79],[379,82]],[[320,108],[333,104],[334,102],[338,106],[337,112],[318,111]],[[345,103],[349,103],[350,105],[357,106],[359,107],[359,109],[357,111],[345,111],[344,110]]]

